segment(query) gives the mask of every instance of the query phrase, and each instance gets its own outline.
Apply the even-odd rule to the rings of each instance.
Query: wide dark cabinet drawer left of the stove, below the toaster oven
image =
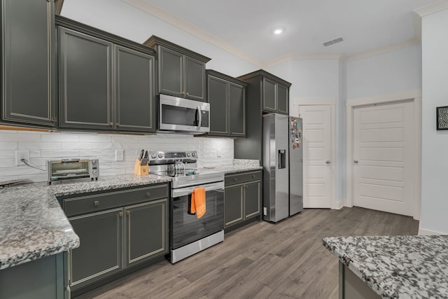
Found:
[[[62,207],[66,216],[73,216],[165,197],[168,197],[167,185],[146,186],[144,188],[66,198],[62,200]]]

